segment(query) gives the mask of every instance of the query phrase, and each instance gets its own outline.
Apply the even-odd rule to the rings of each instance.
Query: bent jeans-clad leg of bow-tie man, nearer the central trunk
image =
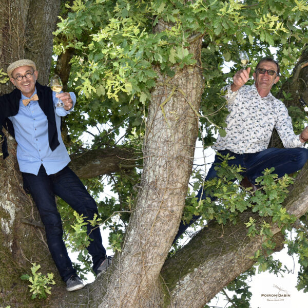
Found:
[[[98,208],[94,199],[69,167],[66,166],[50,177],[55,194],[68,203],[79,215],[83,214],[84,217],[87,217],[86,220],[92,220],[94,214],[98,215]],[[89,237],[92,239],[87,250],[92,256],[93,271],[95,272],[106,258],[106,250],[102,244],[100,228],[88,224],[87,229]]]

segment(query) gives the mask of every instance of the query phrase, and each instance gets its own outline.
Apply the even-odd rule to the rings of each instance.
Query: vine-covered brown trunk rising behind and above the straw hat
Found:
[[[1,0],[1,67],[16,60],[31,59],[39,72],[38,82],[48,84],[53,35],[60,0]],[[7,93],[12,86],[1,88]]]

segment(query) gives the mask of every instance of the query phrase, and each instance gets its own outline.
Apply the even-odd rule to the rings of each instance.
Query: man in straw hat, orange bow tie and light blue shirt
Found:
[[[61,138],[60,119],[68,114],[76,102],[75,94],[51,91],[40,85],[38,71],[31,60],[18,60],[8,69],[10,81],[16,87],[0,97],[0,127],[4,126],[17,142],[17,161],[22,172],[24,188],[30,192],[45,225],[47,244],[51,256],[66,282],[67,291],[84,287],[76,275],[63,242],[63,228],[57,211],[57,195],[78,214],[92,220],[98,209],[85,186],[67,166],[69,155]],[[59,98],[64,106],[55,108]],[[1,132],[3,136],[3,132]],[[3,156],[8,156],[6,139],[3,138]],[[106,257],[98,227],[87,225],[93,271],[102,273],[111,263]]]

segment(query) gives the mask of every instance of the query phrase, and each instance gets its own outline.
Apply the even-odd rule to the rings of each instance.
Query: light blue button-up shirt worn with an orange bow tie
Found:
[[[36,93],[36,89],[33,95]],[[53,104],[57,104],[55,92],[52,92]],[[70,92],[73,106],[76,103],[76,96]],[[19,111],[13,117],[9,117],[15,130],[15,139],[17,141],[17,161],[22,172],[37,175],[41,165],[46,169],[47,175],[55,174],[62,170],[69,162],[70,158],[62,141],[60,124],[61,117],[70,113],[73,109],[66,111],[63,107],[55,108],[55,123],[57,136],[60,145],[53,151],[49,147],[48,141],[48,122],[47,117],[38,101],[30,101],[25,106],[23,94],[20,100]]]

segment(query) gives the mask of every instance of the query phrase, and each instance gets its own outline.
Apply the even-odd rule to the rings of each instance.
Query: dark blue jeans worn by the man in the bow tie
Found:
[[[67,254],[63,242],[63,228],[59,212],[56,208],[55,195],[61,197],[79,215],[93,219],[98,214],[94,199],[90,196],[80,179],[66,166],[53,175],[47,175],[42,165],[37,176],[22,172],[24,187],[28,190],[40,213],[45,226],[49,251],[61,278],[66,281],[71,275],[76,274],[72,262]],[[106,257],[102,244],[100,228],[87,225],[87,232],[92,239],[87,247],[92,256],[93,270],[97,269]]]

